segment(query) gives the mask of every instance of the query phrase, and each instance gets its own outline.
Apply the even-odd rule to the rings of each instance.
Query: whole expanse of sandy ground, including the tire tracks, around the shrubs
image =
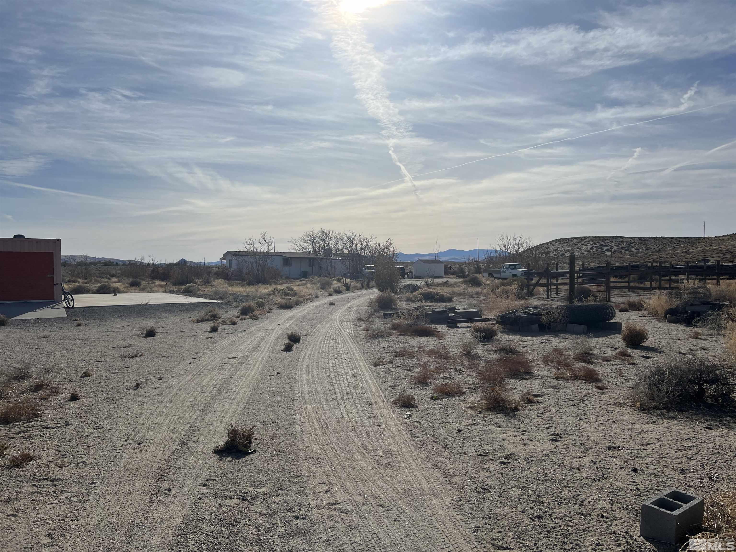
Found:
[[[642,500],[735,486],[732,420],[641,412],[626,399],[648,363],[718,356],[721,337],[619,314],[651,339],[627,364],[611,355],[618,335],[593,336],[611,358],[596,364],[608,386],[596,389],[542,364],[575,336],[502,334],[534,360],[512,389],[538,401],[504,416],[484,411],[471,369],[442,376],[463,383],[461,397],[431,400],[410,383],[432,362],[427,350],[457,352],[469,330],[369,339],[372,293],[321,294],[217,333],[191,322],[202,305],[74,309],[0,328],[1,376],[26,363],[60,387],[42,417],[0,425],[10,450],[39,455],[0,470],[0,548],[648,550]],[[145,325],[155,338],[141,337]],[[302,333],[292,353],[288,330]],[[144,354],[121,358],[135,350]],[[478,363],[495,354],[479,347]],[[67,401],[71,389],[79,400]],[[417,397],[408,418],[391,405],[402,390]],[[230,422],[256,426],[255,454],[212,453]]]

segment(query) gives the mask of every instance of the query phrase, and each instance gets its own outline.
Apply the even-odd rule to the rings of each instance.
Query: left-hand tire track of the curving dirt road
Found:
[[[188,365],[185,379],[155,408],[121,428],[127,436],[107,463],[110,475],[77,517],[67,548],[166,549],[194,500],[192,489],[216,461],[212,448],[238,417],[277,336],[295,317],[330,299],[275,313],[245,335],[224,339],[207,358]]]

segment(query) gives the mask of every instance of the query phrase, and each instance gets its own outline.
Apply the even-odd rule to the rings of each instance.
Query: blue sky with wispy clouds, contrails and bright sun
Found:
[[[730,0],[0,3],[0,236],[736,232]]]

